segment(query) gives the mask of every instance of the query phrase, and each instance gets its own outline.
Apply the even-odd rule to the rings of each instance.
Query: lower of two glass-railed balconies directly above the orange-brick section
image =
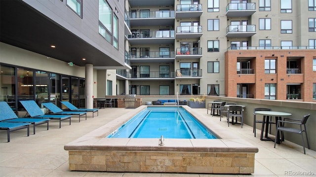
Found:
[[[226,37],[250,37],[256,33],[255,25],[229,25],[226,28]]]

